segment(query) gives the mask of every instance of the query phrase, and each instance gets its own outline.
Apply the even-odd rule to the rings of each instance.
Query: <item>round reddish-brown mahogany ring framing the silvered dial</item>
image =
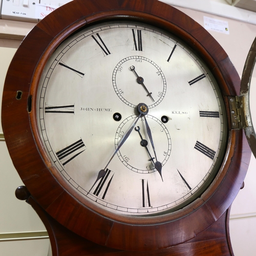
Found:
[[[197,200],[170,214],[123,217],[90,203],[84,204],[79,195],[71,196],[66,185],[56,179],[41,149],[35,129],[34,98],[47,60],[75,31],[110,20],[135,20],[172,32],[200,55],[222,92],[228,120],[228,141],[222,166]],[[179,10],[155,0],[75,0],[42,19],[17,50],[5,81],[2,124],[14,166],[30,192],[28,201],[37,212],[45,212],[58,223],[56,225],[102,246],[134,251],[159,250],[200,237],[219,221],[224,220],[224,226],[228,223],[227,210],[242,186],[251,154],[243,131],[232,127],[229,97],[239,95],[239,91],[240,78],[227,54],[205,29]],[[27,198],[26,195],[29,194],[21,198]],[[226,225],[226,231],[221,229],[221,232],[228,241]]]

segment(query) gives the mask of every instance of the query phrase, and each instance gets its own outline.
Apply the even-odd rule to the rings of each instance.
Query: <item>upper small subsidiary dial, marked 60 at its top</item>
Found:
[[[118,97],[132,108],[138,104],[135,95],[151,109],[163,100],[166,93],[162,70],[154,61],[143,56],[129,56],[118,62],[112,81]]]

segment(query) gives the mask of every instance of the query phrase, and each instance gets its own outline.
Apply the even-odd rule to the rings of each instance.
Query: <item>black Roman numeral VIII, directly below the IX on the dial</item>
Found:
[[[82,139],[80,139],[80,140],[76,141],[75,143],[71,144],[70,146],[63,148],[63,150],[56,152],[56,155],[57,155],[58,159],[60,160],[60,162],[63,165],[66,165],[71,160],[73,160],[75,157],[80,155],[83,151],[85,151],[86,148],[84,148],[84,147],[85,147],[85,145],[83,144]]]

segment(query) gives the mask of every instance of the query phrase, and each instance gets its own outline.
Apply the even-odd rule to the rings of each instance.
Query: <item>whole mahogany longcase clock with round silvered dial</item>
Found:
[[[218,42],[164,3],[75,0],[41,20],[2,124],[53,255],[232,255],[251,154],[238,95]]]

